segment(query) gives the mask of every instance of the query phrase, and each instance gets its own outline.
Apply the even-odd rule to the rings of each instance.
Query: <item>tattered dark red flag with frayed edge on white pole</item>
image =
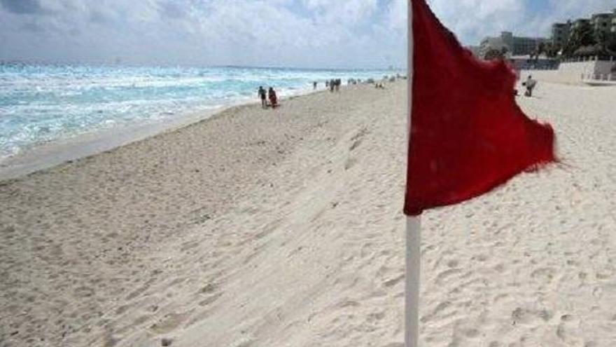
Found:
[[[475,198],[555,161],[554,130],[515,102],[515,74],[482,62],[412,0],[412,109],[405,213]]]

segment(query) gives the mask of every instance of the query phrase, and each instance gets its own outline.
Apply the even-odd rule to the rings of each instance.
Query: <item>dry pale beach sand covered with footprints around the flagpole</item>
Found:
[[[405,83],[234,107],[0,183],[0,346],[402,347]],[[616,88],[563,165],[423,215],[422,346],[616,344]]]

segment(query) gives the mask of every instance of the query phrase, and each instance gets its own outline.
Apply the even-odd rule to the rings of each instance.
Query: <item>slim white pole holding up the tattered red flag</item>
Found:
[[[413,104],[413,8],[408,1],[408,111],[407,144],[411,140]],[[408,148],[408,146],[407,146]],[[407,156],[408,158],[408,156]],[[419,341],[419,275],[421,270],[421,217],[407,217],[405,283],[405,347],[418,347]]]

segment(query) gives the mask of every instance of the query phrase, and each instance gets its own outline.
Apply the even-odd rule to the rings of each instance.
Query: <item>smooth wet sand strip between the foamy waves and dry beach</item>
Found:
[[[346,88],[346,86],[343,86]],[[302,90],[280,97],[281,102],[302,97],[313,93],[320,93],[325,89]],[[35,172],[54,168],[64,163],[71,163],[82,158],[96,156],[98,154],[113,151],[129,144],[147,140],[148,138],[162,135],[166,132],[174,132],[181,128],[208,121],[210,118],[222,114],[234,107],[244,107],[258,104],[258,101],[238,100],[230,104],[215,107],[207,111],[186,111],[176,119],[167,119],[155,123],[134,124],[119,130],[121,126],[94,132],[75,135],[62,140],[55,140],[25,149],[23,153],[10,156],[0,161],[0,182],[20,179]]]

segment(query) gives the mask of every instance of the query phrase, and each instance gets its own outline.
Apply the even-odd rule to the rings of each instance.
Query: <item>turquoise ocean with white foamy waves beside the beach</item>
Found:
[[[259,86],[285,97],[313,81],[381,79],[392,70],[252,67],[120,67],[0,64],[0,163],[41,144],[122,131],[257,100]]]

